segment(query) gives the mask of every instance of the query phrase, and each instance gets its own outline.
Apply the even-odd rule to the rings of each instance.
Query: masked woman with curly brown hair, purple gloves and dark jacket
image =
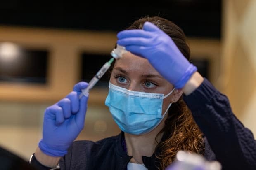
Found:
[[[117,37],[117,44],[130,52],[114,64],[105,104],[122,132],[98,142],[73,142],[87,107],[87,98],[78,98],[87,86],[80,82],[46,109],[33,165],[165,169],[178,150],[185,150],[219,161],[223,170],[256,168],[253,134],[236,119],[225,95],[189,63],[190,50],[178,26],[145,17]]]

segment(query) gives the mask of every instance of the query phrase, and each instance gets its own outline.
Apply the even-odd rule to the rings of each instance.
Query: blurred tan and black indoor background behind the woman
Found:
[[[160,0],[137,6],[9,0],[0,5],[0,146],[24,159],[42,135],[45,109],[110,58],[116,33],[142,16],[183,29],[191,61],[228,96],[235,115],[256,134],[256,0]],[[100,140],[119,128],[104,105],[108,77],[90,92],[76,140]]]

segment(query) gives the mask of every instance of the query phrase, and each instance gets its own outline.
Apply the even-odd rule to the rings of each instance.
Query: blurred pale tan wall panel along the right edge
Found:
[[[256,134],[256,0],[223,1],[221,90]]]

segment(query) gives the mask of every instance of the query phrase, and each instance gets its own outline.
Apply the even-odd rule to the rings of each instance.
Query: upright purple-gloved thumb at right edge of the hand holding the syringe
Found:
[[[76,124],[80,130],[84,127],[84,121],[85,121],[85,113],[87,109],[87,101],[88,97],[84,96],[80,99],[80,108],[78,113],[76,114]]]

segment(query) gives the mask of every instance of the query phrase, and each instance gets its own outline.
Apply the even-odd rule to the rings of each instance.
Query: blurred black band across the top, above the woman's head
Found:
[[[135,6],[136,5],[136,6]],[[0,24],[78,30],[119,31],[141,16],[162,16],[180,26],[190,37],[221,37],[221,0],[81,1],[0,3]]]

